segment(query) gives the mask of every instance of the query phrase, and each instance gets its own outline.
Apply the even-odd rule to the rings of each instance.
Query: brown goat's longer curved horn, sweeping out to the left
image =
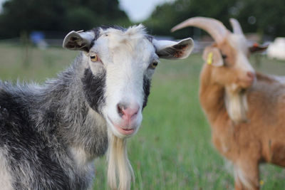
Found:
[[[224,24],[222,24],[220,21],[206,17],[193,17],[187,19],[186,21],[173,27],[171,31],[177,31],[178,29],[185,28],[187,26],[202,28],[204,31],[207,31],[207,33],[209,33],[209,35],[211,35],[212,38],[214,38],[214,41],[217,43],[224,41],[224,38],[229,33],[227,28],[224,27]]]

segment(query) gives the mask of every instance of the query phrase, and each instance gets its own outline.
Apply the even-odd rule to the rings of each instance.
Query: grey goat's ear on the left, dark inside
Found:
[[[63,40],[63,48],[88,52],[93,39],[94,34],[91,32],[71,31]]]

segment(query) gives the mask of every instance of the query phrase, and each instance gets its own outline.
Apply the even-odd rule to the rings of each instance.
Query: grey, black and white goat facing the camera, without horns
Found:
[[[158,59],[187,58],[192,46],[157,41],[142,25],[71,31],[63,48],[81,54],[56,79],[0,82],[1,189],[88,189],[106,151],[110,188],[130,189],[126,138],[138,132]]]

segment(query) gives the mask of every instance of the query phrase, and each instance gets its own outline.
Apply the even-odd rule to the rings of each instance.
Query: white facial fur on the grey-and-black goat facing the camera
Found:
[[[145,98],[143,78],[151,78],[153,70],[147,68],[152,60],[158,59],[154,46],[145,38],[145,31],[140,26],[127,31],[110,28],[101,31],[90,53],[96,53],[102,60],[102,63],[89,60],[93,73],[100,69],[106,70],[103,115],[108,118],[109,127],[117,137],[123,137],[114,127],[114,124],[123,123],[118,114],[118,104],[123,102],[140,107],[136,119],[130,124],[136,132],[142,121],[141,111]]]

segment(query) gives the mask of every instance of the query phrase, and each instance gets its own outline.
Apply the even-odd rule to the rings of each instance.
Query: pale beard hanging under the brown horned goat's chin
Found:
[[[247,94],[245,90],[226,89],[225,102],[229,117],[236,123],[247,122]]]

